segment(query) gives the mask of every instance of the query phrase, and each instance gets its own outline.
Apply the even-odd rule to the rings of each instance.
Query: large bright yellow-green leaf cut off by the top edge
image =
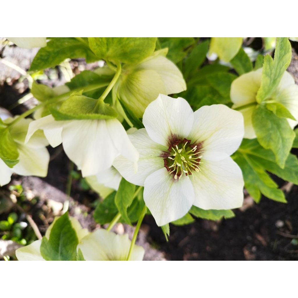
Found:
[[[98,58],[123,63],[138,63],[153,54],[156,37],[89,37]]]

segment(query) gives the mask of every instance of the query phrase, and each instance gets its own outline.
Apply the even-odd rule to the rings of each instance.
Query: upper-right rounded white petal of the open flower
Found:
[[[221,160],[237,150],[243,134],[240,112],[225,105],[205,105],[194,112],[193,128],[187,138],[201,143],[204,159]]]

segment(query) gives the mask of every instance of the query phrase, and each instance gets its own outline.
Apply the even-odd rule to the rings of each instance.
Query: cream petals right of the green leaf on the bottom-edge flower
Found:
[[[78,249],[81,249],[86,261],[125,261],[131,241],[128,234],[117,235],[105,229],[97,229],[84,237]],[[129,261],[142,261],[142,246],[134,245]]]

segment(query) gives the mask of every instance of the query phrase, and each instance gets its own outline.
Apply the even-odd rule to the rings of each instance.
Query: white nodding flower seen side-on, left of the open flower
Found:
[[[55,121],[48,115],[30,123],[25,142],[38,129],[44,130],[52,147],[62,143],[83,177],[107,170],[120,154],[133,162],[136,170],[139,153],[117,119]]]

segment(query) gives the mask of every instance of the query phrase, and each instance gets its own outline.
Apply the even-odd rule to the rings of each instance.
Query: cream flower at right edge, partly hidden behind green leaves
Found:
[[[257,103],[256,95],[261,86],[262,69],[248,72],[241,75],[232,82],[230,97],[234,103],[233,108],[238,108],[250,103]],[[298,119],[298,86],[295,85],[294,78],[285,72],[276,89],[270,97],[270,102],[274,101],[283,104],[288,111]],[[251,105],[239,110],[244,118],[244,137],[247,139],[256,138],[254,128],[252,126],[252,113],[256,105]],[[291,128],[294,128],[298,122],[288,119]]]

